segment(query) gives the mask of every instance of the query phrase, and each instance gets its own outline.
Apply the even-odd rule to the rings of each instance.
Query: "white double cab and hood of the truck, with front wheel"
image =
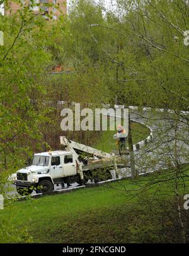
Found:
[[[49,193],[59,183],[81,182],[76,156],[71,151],[49,151],[35,153],[31,166],[13,174],[19,194]]]

